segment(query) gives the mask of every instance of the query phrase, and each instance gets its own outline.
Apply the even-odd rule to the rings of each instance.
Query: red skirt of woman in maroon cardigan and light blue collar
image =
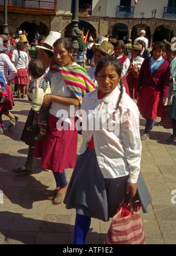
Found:
[[[163,117],[164,105],[160,103],[161,92],[151,87],[143,87],[137,106],[143,117],[155,120],[157,116]]]

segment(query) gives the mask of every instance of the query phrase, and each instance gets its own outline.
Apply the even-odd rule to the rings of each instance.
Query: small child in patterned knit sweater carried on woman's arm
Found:
[[[49,82],[43,76],[45,73],[45,64],[42,60],[32,59],[29,62],[29,75],[32,77],[29,88],[28,98],[32,101],[32,109],[35,110],[33,124],[27,127],[28,131],[38,130],[40,132],[35,136],[35,140],[42,140],[45,138],[48,123],[47,117],[50,107],[42,107],[43,97],[51,94]]]

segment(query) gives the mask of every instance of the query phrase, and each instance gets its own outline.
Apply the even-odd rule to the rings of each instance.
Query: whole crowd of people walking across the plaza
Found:
[[[6,35],[0,38],[0,134],[3,114],[10,119],[8,128],[18,121],[10,112],[12,82],[18,98],[25,97],[28,88],[32,103],[21,135],[29,146],[28,157],[13,172],[32,174],[35,157],[42,159],[44,169],[53,171],[56,188],[48,200],[76,208],[75,244],[84,244],[91,218],[108,221],[126,194],[136,195],[147,213],[152,198],[140,172],[141,140],[148,139],[156,117],[163,117],[165,104],[172,103],[173,134],[168,141],[176,140],[174,44],[155,42],[149,53],[144,32],[132,45],[130,39],[126,44],[108,36],[94,41],[92,35],[86,44],[80,31],[77,63],[72,41],[59,32],[38,38],[38,59],[32,60],[26,52],[26,35],[19,35],[9,52],[5,52]],[[142,136],[140,113],[146,119]],[[83,144],[76,160],[79,120]],[[74,169],[69,184],[68,168]]]

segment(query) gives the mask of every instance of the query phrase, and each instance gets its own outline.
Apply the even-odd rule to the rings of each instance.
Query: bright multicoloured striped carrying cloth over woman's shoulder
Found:
[[[52,62],[50,65],[50,70],[52,72],[60,72],[60,75],[62,76],[66,85],[75,95],[76,99],[79,100],[80,107],[82,106],[84,95],[96,89],[90,76],[81,66],[72,65],[61,68],[57,62]]]

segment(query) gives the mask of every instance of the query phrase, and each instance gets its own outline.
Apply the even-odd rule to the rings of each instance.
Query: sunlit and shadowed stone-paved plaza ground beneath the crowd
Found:
[[[12,173],[13,167],[25,163],[28,153],[20,137],[30,108],[28,100],[15,99],[12,113],[19,117],[18,123],[0,137],[0,190],[4,193],[4,202],[0,194],[0,244],[73,244],[75,210],[46,200],[55,188],[52,172],[42,169],[36,159],[31,176]],[[9,120],[3,118],[8,127]],[[141,133],[144,123],[141,118]],[[141,171],[153,197],[149,213],[141,213],[147,244],[176,244],[176,204],[171,203],[171,191],[176,190],[176,142],[165,143],[169,132],[154,126],[150,139],[143,142]],[[79,136],[78,150],[81,140]],[[72,170],[66,174],[69,180]],[[109,225],[110,221],[93,219],[86,244],[103,244]]]

